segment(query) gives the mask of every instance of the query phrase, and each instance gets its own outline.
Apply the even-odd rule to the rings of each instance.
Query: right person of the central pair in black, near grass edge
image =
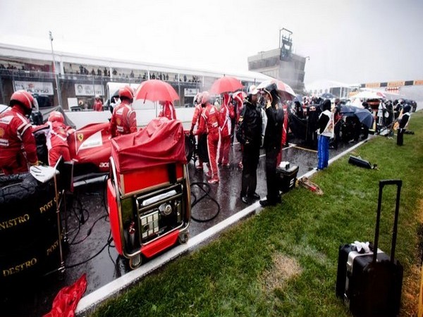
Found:
[[[267,124],[264,132],[264,150],[266,151],[266,199],[260,200],[262,206],[275,206],[281,202],[276,166],[282,143],[283,110],[278,97],[276,84],[263,89],[266,105]]]

